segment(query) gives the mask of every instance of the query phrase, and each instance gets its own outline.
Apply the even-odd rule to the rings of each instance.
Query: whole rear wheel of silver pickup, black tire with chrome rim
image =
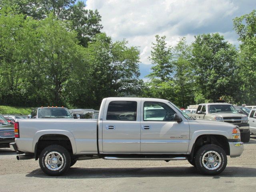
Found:
[[[39,156],[40,168],[50,176],[64,174],[70,167],[70,161],[69,152],[60,145],[47,146]]]

